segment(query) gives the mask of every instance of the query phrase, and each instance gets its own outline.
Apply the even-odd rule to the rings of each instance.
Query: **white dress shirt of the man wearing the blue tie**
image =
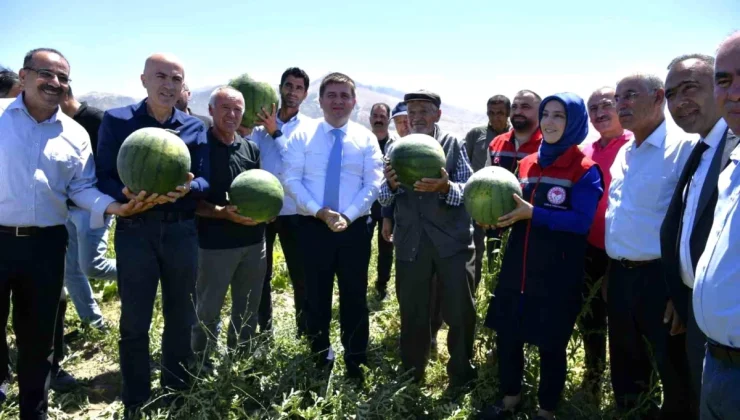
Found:
[[[285,186],[297,204],[298,214],[315,216],[324,207],[324,184],[334,144],[332,127],[321,120],[297,129],[283,151]],[[342,140],[339,212],[350,222],[370,213],[383,181],[383,154],[378,139],[367,128],[349,121],[337,127]]]

